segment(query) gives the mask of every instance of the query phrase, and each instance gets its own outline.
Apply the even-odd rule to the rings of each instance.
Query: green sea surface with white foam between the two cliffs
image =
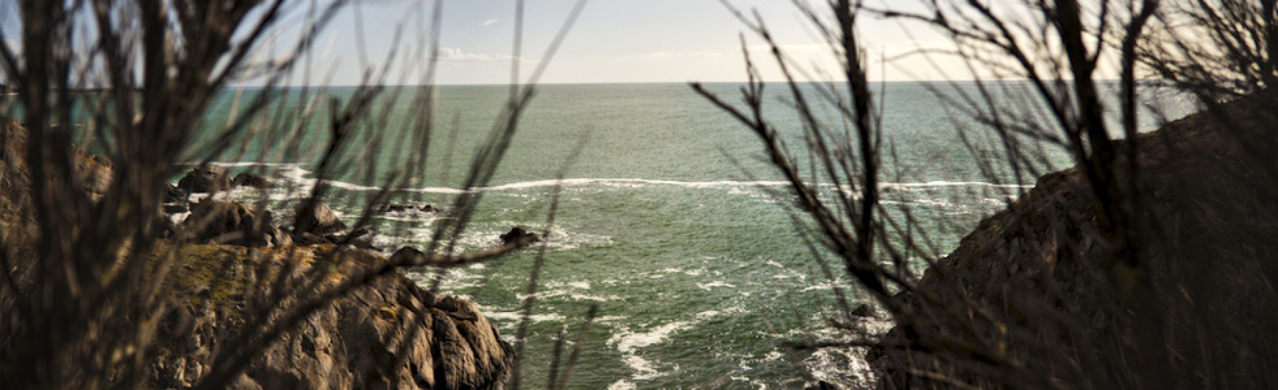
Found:
[[[707,87],[728,102],[743,102],[741,85]],[[881,177],[884,203],[895,218],[904,218],[907,209],[918,229],[927,232],[932,254],[919,256],[943,256],[980,218],[1034,185],[1031,175],[1012,175],[983,126],[934,94],[973,88],[920,83],[875,88],[887,167]],[[193,152],[187,161],[211,159],[273,177],[280,184],[270,191],[276,209],[290,209],[314,184],[317,162],[331,139],[330,99],[349,102],[354,90],[289,90],[286,103],[271,108],[284,115],[271,113],[249,126],[239,138],[243,143],[220,154]],[[326,200],[348,223],[389,180],[404,187],[392,192],[390,203],[447,208],[464,190],[475,150],[505,121],[509,87],[440,87],[429,96],[432,108],[414,96],[420,90],[385,90],[368,107],[368,119],[346,134],[353,144],[335,150],[341,172],[331,177]],[[782,84],[768,84],[767,90],[769,121],[797,162],[808,164],[796,136],[794,96]],[[809,98],[815,93],[812,85],[803,90]],[[224,92],[201,134],[238,120],[234,107],[258,93]],[[1164,108],[1166,119],[1192,108],[1189,99],[1167,90],[1146,89],[1143,96]],[[1011,93],[997,98],[1008,105],[1033,102]],[[837,111],[823,107],[815,115],[842,126]],[[290,112],[307,112],[314,120],[299,122]],[[429,143],[418,136],[426,131],[424,119],[432,119]],[[580,345],[570,389],[796,389],[812,377],[858,381],[869,375],[856,350],[812,353],[783,345],[845,339],[828,320],[840,315],[835,287],[847,283],[837,273],[836,280],[827,279],[795,232],[792,199],[767,163],[759,138],[689,85],[541,85],[518,122],[500,168],[478,189],[483,199],[460,247],[496,246],[498,235],[516,226],[548,229],[521,368],[525,387],[544,386],[558,333],[569,340],[565,356],[578,347],[592,306],[598,317]],[[1141,127],[1158,124],[1148,115]],[[281,136],[279,129],[300,131]],[[210,138],[202,139],[207,147]],[[413,152],[424,152],[424,168],[404,168]],[[1030,154],[1042,171],[1072,164],[1065,150],[1051,145]],[[556,187],[558,212],[547,226]],[[389,250],[424,247],[441,218],[449,217],[377,214],[376,243]],[[535,257],[533,249],[442,274],[412,269],[409,275],[424,288],[438,278],[443,293],[474,300],[514,342]],[[855,289],[851,293],[858,300]],[[864,325],[887,326],[882,320]]]

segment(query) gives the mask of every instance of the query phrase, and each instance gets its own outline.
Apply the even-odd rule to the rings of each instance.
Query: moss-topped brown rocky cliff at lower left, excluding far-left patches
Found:
[[[188,310],[164,322],[165,331],[180,342],[164,345],[156,359],[151,380],[156,387],[198,382],[219,350],[235,347],[227,342],[256,310],[254,289],[270,284],[258,275],[291,261],[302,283],[316,264],[328,266],[332,259],[339,259],[343,270],[377,261],[367,251],[332,245],[302,250],[188,245],[180,256],[183,269],[174,273],[166,291]],[[316,289],[335,287],[344,278],[345,271],[332,273]],[[396,270],[320,307],[284,333],[231,387],[495,389],[509,375],[510,358],[510,345],[475,303],[435,296]]]

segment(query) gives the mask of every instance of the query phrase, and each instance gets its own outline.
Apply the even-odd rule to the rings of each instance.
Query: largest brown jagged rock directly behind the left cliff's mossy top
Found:
[[[190,206],[184,228],[193,232],[196,242],[270,246],[279,241],[275,233],[279,228],[271,222],[271,212],[208,198]]]

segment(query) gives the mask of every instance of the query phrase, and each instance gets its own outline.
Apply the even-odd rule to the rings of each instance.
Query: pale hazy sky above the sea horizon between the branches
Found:
[[[575,0],[529,0],[525,3],[525,36],[520,66],[524,78],[543,60],[552,37]],[[823,1],[817,1],[823,3]],[[397,27],[410,47],[427,28],[428,1],[368,1],[348,9],[320,37],[314,51],[316,74],[331,75],[330,84],[359,83],[364,66],[386,62]],[[801,64],[837,70],[828,48],[819,45],[813,29],[787,0],[732,0],[743,10],[757,9],[778,41]],[[363,20],[363,34],[357,22]],[[299,17],[295,22],[302,20]],[[441,84],[500,84],[510,80],[514,0],[446,0],[440,38],[441,61],[436,76]],[[745,68],[739,34],[746,28],[718,0],[592,0],[585,6],[558,54],[542,78],[543,83],[653,83],[740,82]],[[904,33],[896,20],[864,18],[863,38],[873,61],[875,79],[934,79],[925,62],[916,59],[883,64],[883,52],[893,56],[939,40],[925,28]],[[360,38],[362,37],[362,38]],[[285,41],[285,40],[281,40]],[[746,33],[751,52],[762,62],[762,41]],[[360,65],[360,50],[366,59]],[[400,60],[405,56],[400,51]],[[424,55],[423,55],[424,57]],[[408,62],[424,64],[420,60]],[[396,61],[395,64],[404,64]],[[769,64],[766,64],[769,65]],[[394,68],[389,84],[415,83]],[[766,76],[776,79],[772,66]]]

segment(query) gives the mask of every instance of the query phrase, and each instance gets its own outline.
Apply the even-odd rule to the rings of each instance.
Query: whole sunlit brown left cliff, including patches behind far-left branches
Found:
[[[26,130],[13,120],[0,122],[0,227],[5,246],[23,254],[13,241],[15,229],[33,222],[29,177],[22,155]],[[110,163],[77,152],[84,189],[106,190]],[[234,204],[233,204],[234,205]],[[212,224],[244,229],[253,210],[207,213]],[[224,215],[225,214],[225,215]],[[243,214],[243,215],[242,215]],[[230,217],[235,218],[230,218]],[[268,214],[267,214],[268,215]],[[267,217],[268,218],[268,217]],[[235,223],[225,222],[234,219]],[[225,223],[224,223],[225,222]],[[280,236],[277,228],[267,233]],[[272,237],[273,237],[272,236]],[[253,236],[248,236],[253,237]],[[279,238],[279,237],[273,237]],[[204,240],[207,242],[213,240]],[[175,270],[164,283],[161,298],[169,315],[160,321],[156,350],[144,387],[188,387],[207,379],[219,357],[238,347],[253,319],[279,321],[280,314],[262,315],[268,303],[298,305],[304,294],[272,301],[275,291],[326,291],[348,282],[369,264],[383,261],[374,251],[332,243],[293,245],[271,241],[253,245],[199,243],[174,249],[161,240],[152,247],[152,260],[176,256]],[[29,245],[29,242],[27,243]],[[35,263],[22,257],[17,261]],[[158,264],[158,263],[156,263]],[[15,269],[29,266],[18,264]],[[282,275],[282,277],[281,277]],[[320,285],[305,284],[321,275]],[[280,277],[280,278],[276,278]],[[426,292],[403,271],[392,270],[360,280],[357,288],[321,305],[296,326],[275,338],[265,353],[231,379],[233,389],[500,389],[510,373],[510,344],[484,319],[474,302]],[[305,288],[305,289],[303,289]],[[14,297],[0,292],[0,303]],[[12,307],[0,305],[0,307]],[[5,328],[23,326],[20,316],[0,315]],[[8,350],[0,348],[0,352]],[[12,361],[5,357],[0,361]],[[0,370],[0,373],[5,371]],[[13,372],[9,372],[13,373]],[[18,375],[18,373],[13,373]],[[0,379],[3,382],[3,379]]]

